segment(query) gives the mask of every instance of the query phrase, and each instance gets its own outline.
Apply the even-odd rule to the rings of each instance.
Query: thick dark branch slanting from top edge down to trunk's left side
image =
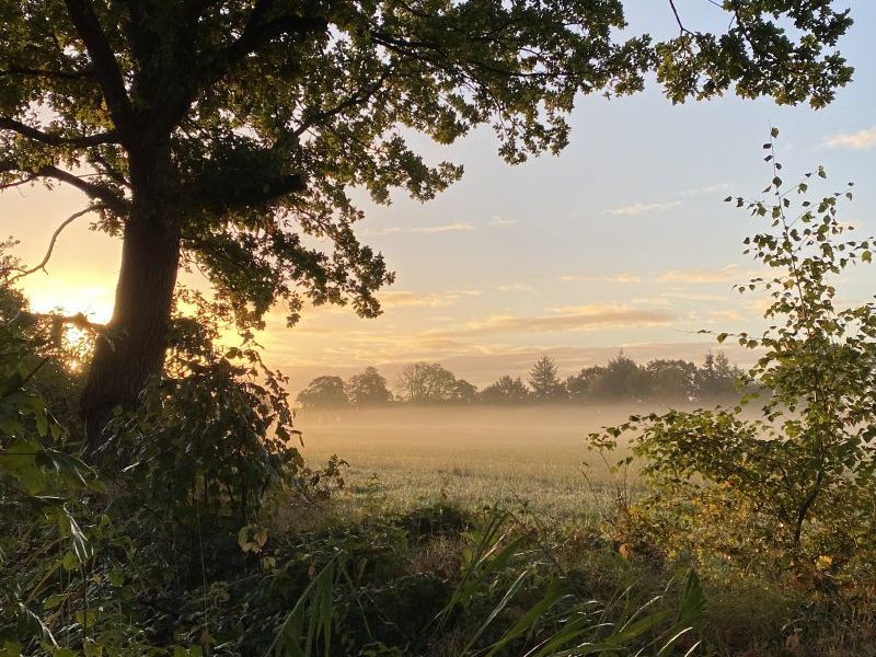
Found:
[[[94,65],[94,76],[103,90],[116,128],[128,136],[135,129],[134,110],[113,49],[101,27],[90,0],[65,0],[67,13]]]

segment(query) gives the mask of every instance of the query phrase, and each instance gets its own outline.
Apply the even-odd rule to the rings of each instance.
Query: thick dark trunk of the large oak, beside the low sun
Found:
[[[137,160],[145,160],[145,163]],[[99,337],[80,402],[85,453],[94,458],[114,408],[131,408],[149,377],[164,364],[180,229],[173,211],[170,150],[131,153],[131,212],[125,224],[122,267],[107,336]]]

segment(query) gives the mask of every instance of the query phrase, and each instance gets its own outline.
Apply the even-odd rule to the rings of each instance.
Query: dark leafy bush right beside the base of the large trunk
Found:
[[[263,365],[247,335],[222,349],[222,310],[199,295],[183,298],[196,315],[176,319],[166,374],[147,387],[135,413],[110,424],[104,450],[130,463],[122,481],[153,510],[177,522],[230,515],[247,525],[268,491],[319,477],[292,446],[300,431],[284,377]]]

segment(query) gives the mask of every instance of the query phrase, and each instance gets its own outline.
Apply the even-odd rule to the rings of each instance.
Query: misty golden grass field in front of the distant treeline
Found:
[[[585,435],[643,411],[629,404],[394,407],[302,412],[297,424],[309,462],[337,454],[349,463],[345,495],[355,502],[526,500],[545,512],[579,515],[611,499],[619,476],[588,453]]]

